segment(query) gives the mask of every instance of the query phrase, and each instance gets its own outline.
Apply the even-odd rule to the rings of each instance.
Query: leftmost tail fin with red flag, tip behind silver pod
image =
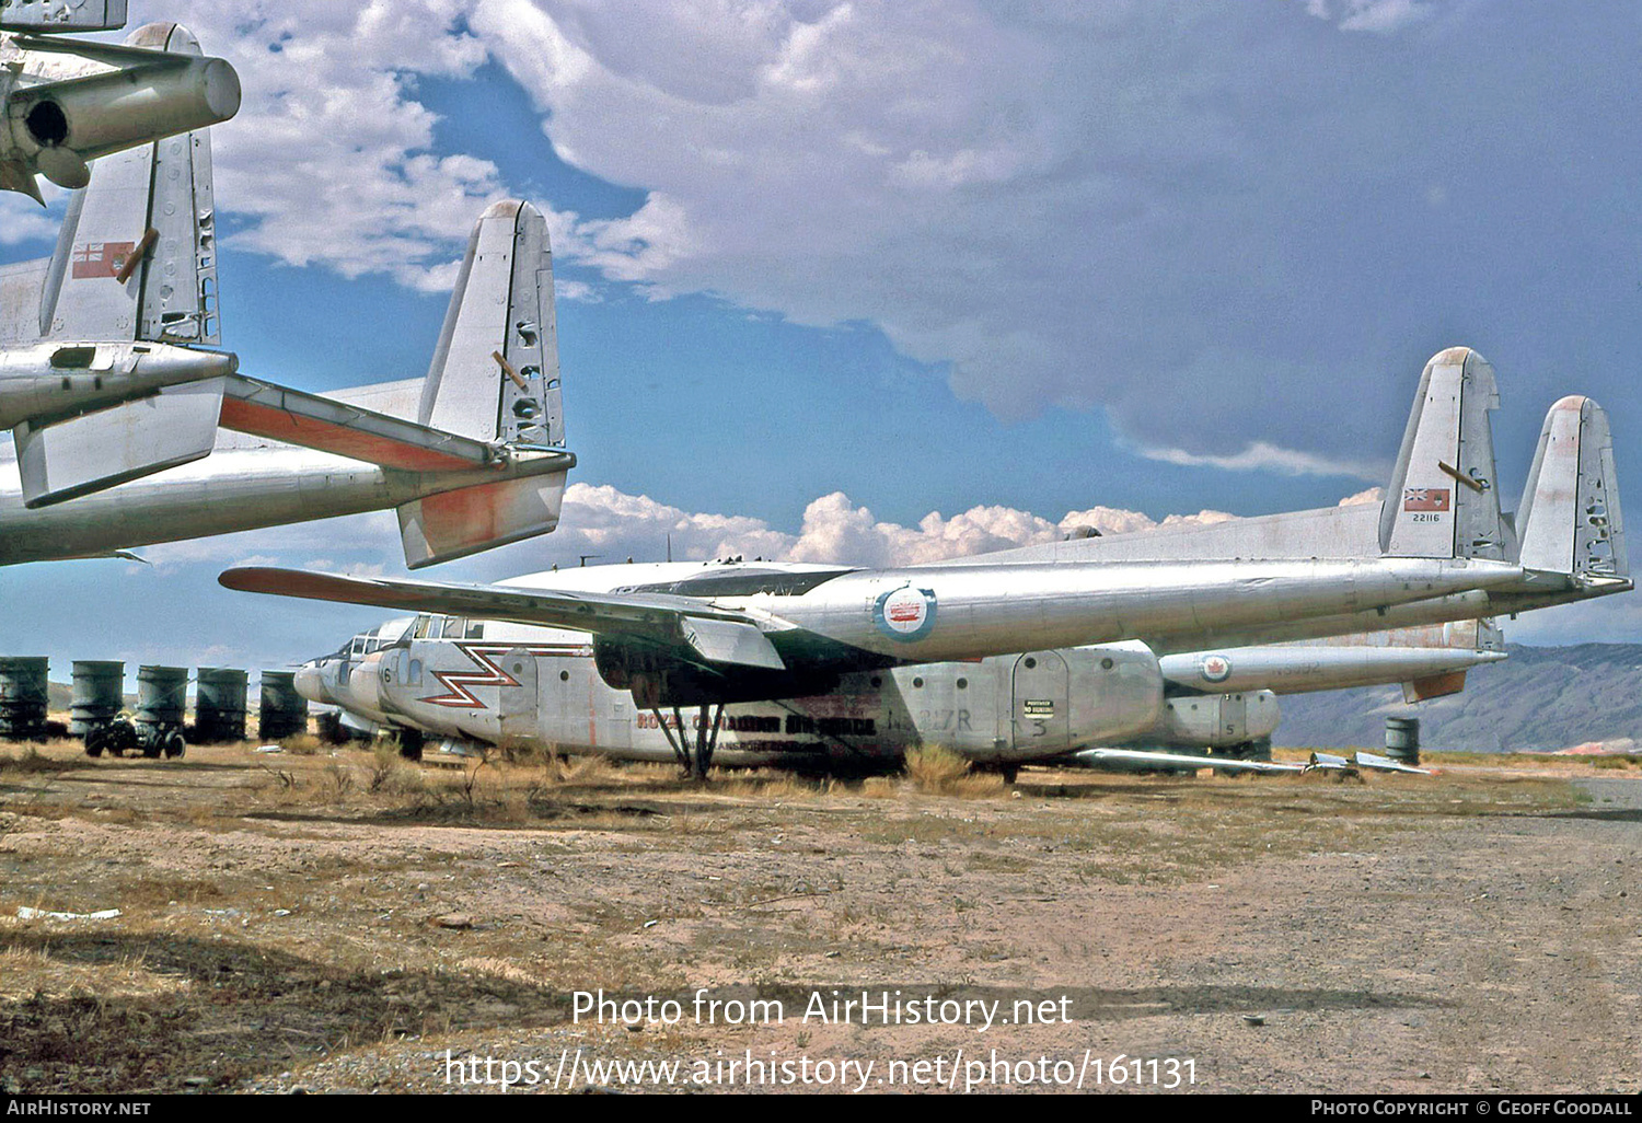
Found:
[[[200,54],[174,23],[133,46]],[[103,156],[69,202],[39,294],[39,337],[217,346],[217,209],[207,130]]]

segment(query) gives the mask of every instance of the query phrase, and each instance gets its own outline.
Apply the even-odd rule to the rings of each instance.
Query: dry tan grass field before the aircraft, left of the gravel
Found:
[[[54,752],[69,763],[46,749],[30,767],[51,772]],[[437,768],[392,747],[90,768],[11,782],[49,788],[43,809],[64,823],[16,816],[26,846],[0,849],[0,911],[125,910],[95,924],[0,914],[0,1075],[39,1069],[41,1090],[174,1090],[202,1074],[235,1087],[287,1069],[309,1082],[309,1062],[406,1034],[425,1054],[445,1044],[425,1034],[460,1051],[562,1026],[565,995],[586,987],[831,982],[854,960],[938,970],[949,949],[964,952],[952,972],[1002,972],[987,964],[1023,947],[1089,954],[1080,936],[979,923],[1044,893],[1092,906],[1113,887],[1378,854],[1575,800],[1560,773],[1506,770],[1363,786],[1031,770],[1018,800],[977,801],[1007,790],[949,754],[859,783],[726,772],[696,785],[599,757]],[[429,923],[448,913],[473,924]]]

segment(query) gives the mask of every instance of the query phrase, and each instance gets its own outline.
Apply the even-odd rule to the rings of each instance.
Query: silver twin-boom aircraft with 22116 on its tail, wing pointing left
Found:
[[[805,717],[824,716],[834,722],[824,737],[844,744],[882,740],[880,727],[900,722],[910,736],[939,734],[970,755],[1041,757],[1046,747],[1110,744],[1153,726],[1163,696],[1159,657],[1169,653],[1266,644],[1274,629],[1292,632],[1284,639],[1386,630],[1629,589],[1606,415],[1586,399],[1552,409],[1517,525],[1501,516],[1493,483],[1488,410],[1496,401],[1493,371],[1479,356],[1465,348],[1435,356],[1378,517],[1371,524],[1360,516],[1292,517],[1302,527],[1333,527],[1333,553],[1317,535],[1294,534],[1281,520],[1251,520],[1253,539],[1215,527],[1197,543],[1135,547],[1131,553],[1149,555],[1143,560],[1121,550],[1080,552],[1112,542],[1082,539],[1051,547],[1048,558],[1016,550],[897,570],[663,563],[461,586],[241,568],[220,581],[232,589],[409,609],[429,621],[563,630],[557,647],[532,650],[511,632],[493,642],[493,626],[484,624],[478,637],[484,644],[463,652],[473,670],[448,683],[435,678],[438,690],[417,699],[483,709],[489,703],[468,686],[494,686],[499,740],[527,736],[544,708],[570,706],[583,719],[604,713],[619,722],[601,734],[591,721],[593,744],[624,736],[631,744],[632,727],[654,721],[701,775],[726,706],[808,699],[823,709]],[[1373,537],[1353,543],[1348,532],[1358,524]],[[1240,547],[1227,548],[1233,542]],[[1069,660],[1059,649],[1082,653]],[[399,650],[392,660],[378,655],[371,673],[389,688],[402,676],[414,690],[432,672],[409,655],[414,647]],[[544,655],[578,660],[560,667],[550,693],[534,676]],[[979,688],[962,698],[990,688],[1002,699],[988,703],[977,722],[979,703],[965,708],[959,693],[934,693],[928,665],[988,658],[1002,660],[997,667],[1008,667],[1008,675],[949,680],[952,691]],[[353,699],[386,714],[381,685],[369,678],[348,668]],[[583,699],[596,683],[629,693],[634,713],[624,704],[589,708]],[[888,709],[851,709],[852,699],[867,696],[887,699],[878,704]],[[686,706],[699,709],[695,722],[683,721]],[[915,716],[926,713],[951,724],[920,729]],[[959,727],[959,713],[969,714],[967,727]],[[787,729],[785,721],[780,726]],[[1043,732],[1021,732],[1034,729]],[[754,732],[775,731],[755,726]],[[777,750],[790,754],[796,744]]]

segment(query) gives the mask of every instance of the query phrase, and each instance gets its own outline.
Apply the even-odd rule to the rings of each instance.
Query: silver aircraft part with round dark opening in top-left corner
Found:
[[[223,59],[169,49],[172,25],[125,46],[64,31],[125,26],[125,0],[10,0],[0,11],[0,190],[43,202],[36,176],[84,187],[90,161],[205,128],[240,110],[240,76]]]

